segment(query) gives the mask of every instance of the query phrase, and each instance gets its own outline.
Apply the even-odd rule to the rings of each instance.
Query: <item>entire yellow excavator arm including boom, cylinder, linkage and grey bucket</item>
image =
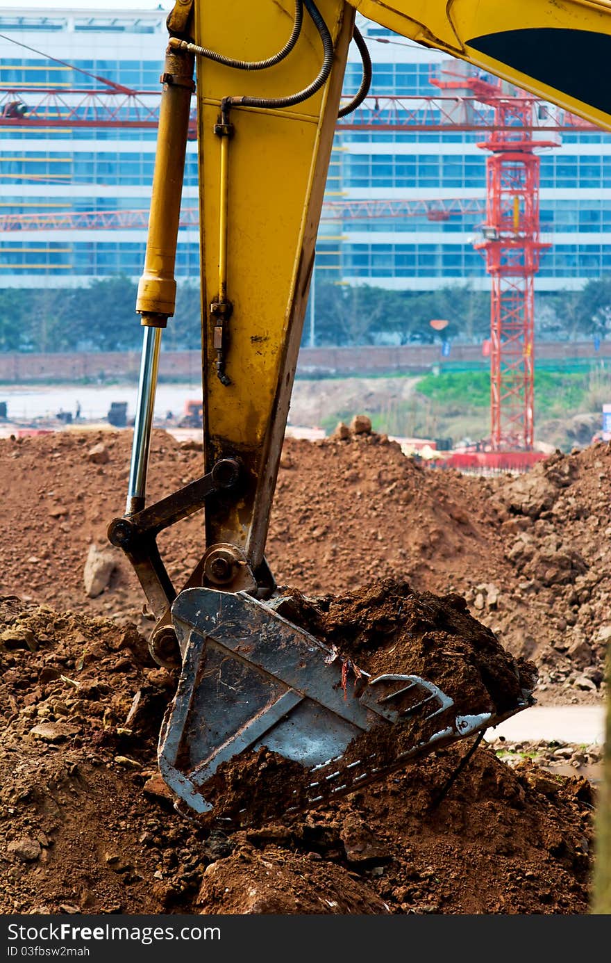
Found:
[[[318,776],[304,795],[312,801],[349,792],[357,780],[362,785],[383,771],[371,756],[367,766],[354,755],[347,768],[341,763],[347,745],[373,726],[401,726],[419,714],[430,722],[428,730],[418,728],[411,746],[401,730],[400,762],[500,720],[494,713],[459,712],[434,679],[394,674],[369,679],[358,670],[348,679],[332,651],[278,613],[265,558],[351,39],[361,51],[366,81],[369,74],[355,9],[403,37],[485,67],[611,127],[611,94],[600,83],[611,50],[606,2],[177,0],[167,20],[137,302],[144,340],[127,506],[109,536],[134,565],[157,617],[150,641],[154,658],[181,668],[159,761],[174,793],[198,812],[211,808],[206,787],[216,768],[247,749],[264,745],[316,768]],[[365,90],[366,83],[357,100]],[[159,351],[174,314],[193,91],[204,474],[146,506]],[[342,111],[351,106],[354,102]],[[202,507],[204,552],[178,590],[156,538]],[[505,715],[530,701],[531,692],[522,691]]]

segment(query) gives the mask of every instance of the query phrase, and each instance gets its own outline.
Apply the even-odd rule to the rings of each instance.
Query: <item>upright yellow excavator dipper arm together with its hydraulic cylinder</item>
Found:
[[[247,587],[259,595],[274,588],[264,554],[269,510],[353,19],[344,0],[320,0],[316,6],[311,0],[195,2],[177,5],[169,18],[149,238],[137,302],[144,345],[127,516],[133,519],[144,505],[161,331],[174,311],[186,105],[194,62],[204,467],[210,474],[226,459],[240,465],[239,481],[230,492],[216,489],[206,498],[207,550],[198,566],[200,586],[243,589],[247,572]],[[275,52],[295,34],[289,55],[255,68],[266,59],[275,61]],[[218,51],[220,62],[193,52],[198,49]],[[226,51],[231,66],[225,63]],[[115,520],[115,544],[124,529]],[[159,602],[153,609],[162,619],[166,615]],[[154,639],[152,644],[154,648]]]

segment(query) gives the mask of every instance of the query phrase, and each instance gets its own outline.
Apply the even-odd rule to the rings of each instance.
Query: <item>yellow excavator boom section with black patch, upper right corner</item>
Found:
[[[611,128],[607,0],[350,0],[359,13],[423,46],[489,70]]]

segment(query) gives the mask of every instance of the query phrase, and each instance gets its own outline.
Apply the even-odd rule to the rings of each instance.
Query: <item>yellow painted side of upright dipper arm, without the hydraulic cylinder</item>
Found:
[[[210,466],[221,455],[242,455],[250,477],[237,510],[227,508],[225,516],[210,512],[207,543],[239,544],[255,565],[261,561],[267,532],[354,15],[344,0],[321,0],[318,7],[336,43],[329,81],[289,109],[233,107],[230,140],[214,132],[221,99],[277,98],[306,88],[322,64],[316,27],[306,13],[292,54],[267,70],[245,72],[196,60],[205,456]],[[293,15],[293,0],[196,0],[193,39],[228,57],[261,60],[284,45]],[[223,141],[226,265],[219,246]],[[233,305],[225,357],[229,385],[216,377],[209,316],[210,304],[219,295],[219,268]]]

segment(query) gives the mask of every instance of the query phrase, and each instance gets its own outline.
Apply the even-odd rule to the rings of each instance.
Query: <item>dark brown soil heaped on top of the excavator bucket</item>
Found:
[[[516,663],[460,595],[420,594],[386,579],[340,598],[293,592],[278,611],[371,676],[434,679],[461,713],[500,716],[534,688],[535,665]]]

